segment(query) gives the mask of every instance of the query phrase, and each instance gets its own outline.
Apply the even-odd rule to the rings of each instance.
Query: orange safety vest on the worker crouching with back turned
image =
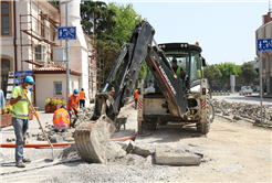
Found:
[[[53,116],[53,125],[55,128],[70,126],[70,116],[67,110],[65,110],[64,108],[55,110]]]

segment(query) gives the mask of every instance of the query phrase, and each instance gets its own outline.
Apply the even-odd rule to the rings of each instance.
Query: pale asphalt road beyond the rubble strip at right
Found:
[[[212,96],[212,98],[219,100],[224,99],[229,103],[248,103],[261,105],[259,93],[253,93],[252,96],[240,96],[239,94],[230,94],[229,96]],[[262,105],[272,107],[272,98],[262,98]]]

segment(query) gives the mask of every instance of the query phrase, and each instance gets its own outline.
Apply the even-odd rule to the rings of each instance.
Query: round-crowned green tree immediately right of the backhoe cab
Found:
[[[216,67],[215,65],[207,65],[206,67],[203,67],[203,77],[208,79],[208,83],[210,84],[210,86],[211,84],[213,84],[215,80],[217,80],[221,76],[222,74],[220,69]],[[211,94],[211,89],[209,90],[209,93]]]

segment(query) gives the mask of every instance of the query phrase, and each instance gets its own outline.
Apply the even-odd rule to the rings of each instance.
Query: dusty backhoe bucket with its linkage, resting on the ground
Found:
[[[106,143],[115,131],[115,123],[106,115],[107,95],[96,96],[95,110],[92,122],[76,127],[74,132],[75,144],[82,160],[90,163],[106,164]],[[97,119],[98,118],[98,119]]]

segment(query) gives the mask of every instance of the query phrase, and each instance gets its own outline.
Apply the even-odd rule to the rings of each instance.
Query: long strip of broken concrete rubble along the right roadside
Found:
[[[213,99],[216,114],[221,114],[222,116],[233,116],[233,119],[240,120],[242,118],[251,119],[252,121],[258,121],[263,117],[263,125],[272,126],[272,108],[269,106],[263,106],[261,114],[260,105],[250,105],[247,103],[228,103],[226,100]]]

